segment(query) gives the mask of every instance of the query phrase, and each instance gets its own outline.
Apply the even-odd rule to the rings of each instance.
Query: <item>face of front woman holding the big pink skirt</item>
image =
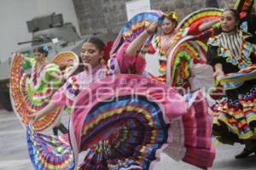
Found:
[[[96,48],[91,42],[84,42],[81,50],[81,59],[83,64],[90,65],[92,68],[100,64],[100,59],[102,58],[102,51]]]

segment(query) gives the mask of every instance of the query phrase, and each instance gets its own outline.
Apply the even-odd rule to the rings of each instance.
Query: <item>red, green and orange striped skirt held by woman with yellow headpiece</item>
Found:
[[[199,35],[187,35],[189,27],[220,18],[222,10],[218,8],[202,8],[189,14],[177,26],[177,41],[167,54],[166,82],[172,87],[182,87],[191,76],[191,63],[207,61],[207,41],[214,33],[213,29]]]

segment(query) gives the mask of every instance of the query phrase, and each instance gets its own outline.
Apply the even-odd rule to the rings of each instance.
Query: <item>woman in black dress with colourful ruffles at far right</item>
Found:
[[[256,63],[253,35],[247,32],[247,23],[240,25],[239,14],[234,9],[225,9],[220,25],[223,30],[208,41],[209,64],[214,69],[213,77],[224,77]],[[225,87],[225,96],[213,107],[213,134],[223,143],[245,144],[245,149],[236,158],[249,156],[256,151],[255,132],[255,80]]]

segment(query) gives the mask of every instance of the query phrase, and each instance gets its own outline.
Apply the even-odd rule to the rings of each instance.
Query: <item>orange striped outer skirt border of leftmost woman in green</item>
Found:
[[[29,85],[30,77],[28,77],[22,68],[22,58],[21,54],[15,54],[12,60],[10,97],[16,116],[19,117],[22,126],[27,127],[28,123],[31,122],[27,115],[35,111],[40,111],[48,104],[48,101],[42,99],[40,102],[34,102],[32,100],[32,88]],[[54,89],[49,90],[53,91]],[[60,111],[61,108],[57,108],[56,111],[51,111],[47,116],[40,118],[38,122],[34,124],[34,129],[43,131],[51,127],[60,116]]]

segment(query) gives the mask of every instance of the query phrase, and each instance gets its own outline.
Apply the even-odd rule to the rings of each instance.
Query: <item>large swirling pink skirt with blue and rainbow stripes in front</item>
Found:
[[[152,169],[164,151],[212,167],[212,117],[201,93],[189,104],[172,88],[136,75],[102,79],[79,94],[68,138],[27,130],[36,169]],[[86,151],[79,162],[79,152]]]

